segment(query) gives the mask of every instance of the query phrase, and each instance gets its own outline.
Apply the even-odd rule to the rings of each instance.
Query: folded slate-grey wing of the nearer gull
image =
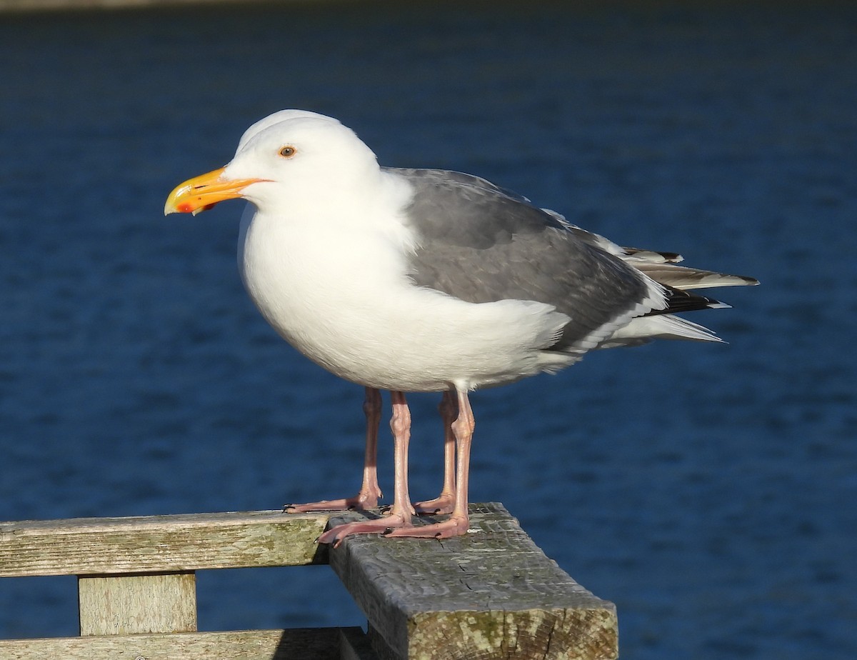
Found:
[[[419,244],[417,285],[469,303],[504,299],[554,305],[571,321],[555,350],[576,345],[651,297],[650,284],[564,222],[482,178],[440,170],[388,169],[405,177]]]

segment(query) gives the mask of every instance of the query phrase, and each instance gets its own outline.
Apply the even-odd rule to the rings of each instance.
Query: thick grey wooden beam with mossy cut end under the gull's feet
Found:
[[[618,657],[613,603],[548,559],[502,505],[470,515],[462,537],[357,536],[331,550],[380,657]]]

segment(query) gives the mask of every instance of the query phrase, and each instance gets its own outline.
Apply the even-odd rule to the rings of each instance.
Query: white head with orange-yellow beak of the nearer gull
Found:
[[[237,197],[259,208],[317,202],[363,189],[379,172],[375,153],[336,119],[283,110],[250,126],[228,165],[173,189],[164,213],[199,213]]]

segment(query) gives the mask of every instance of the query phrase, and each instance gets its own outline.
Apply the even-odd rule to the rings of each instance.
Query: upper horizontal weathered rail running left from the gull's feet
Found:
[[[0,523],[0,578],[327,563],[329,513],[196,513]]]

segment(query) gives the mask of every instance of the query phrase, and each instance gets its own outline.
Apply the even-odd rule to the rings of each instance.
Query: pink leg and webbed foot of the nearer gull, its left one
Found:
[[[405,401],[405,394],[391,392],[393,399],[393,464],[395,466],[395,484],[393,489],[393,507],[384,518],[360,520],[356,523],[337,525],[318,538],[318,543],[333,543],[339,547],[342,539],[351,534],[381,534],[390,529],[410,528],[412,525],[411,497],[408,495],[408,444],[411,441],[411,411]]]

